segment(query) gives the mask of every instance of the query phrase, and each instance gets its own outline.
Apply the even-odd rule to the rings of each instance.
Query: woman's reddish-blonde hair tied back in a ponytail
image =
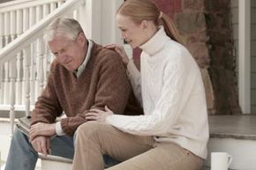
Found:
[[[156,26],[162,25],[172,40],[183,43],[169,16],[162,13],[151,0],[126,0],[117,10],[118,13],[130,17],[137,24],[143,20],[152,20]]]

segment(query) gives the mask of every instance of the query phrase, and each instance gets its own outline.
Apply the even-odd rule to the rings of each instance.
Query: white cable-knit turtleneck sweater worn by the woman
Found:
[[[154,136],[157,142],[177,143],[206,159],[207,103],[197,63],[163,28],[140,48],[141,79],[134,64],[128,70],[138,97],[141,80],[145,115],[110,115],[107,122],[124,132]]]

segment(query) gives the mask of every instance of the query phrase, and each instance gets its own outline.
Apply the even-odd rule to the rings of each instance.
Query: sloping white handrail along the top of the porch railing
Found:
[[[74,11],[78,9],[79,6],[85,3],[86,0],[67,0],[55,11],[49,13],[49,15],[45,18],[42,18],[41,21],[36,23],[25,33],[22,33],[19,37],[17,37],[17,39],[11,41],[0,50],[0,65],[7,61],[10,61],[20,50],[26,48],[29,44],[39,38],[43,34],[42,28],[48,26],[54,18],[58,18],[66,14],[67,11]]]

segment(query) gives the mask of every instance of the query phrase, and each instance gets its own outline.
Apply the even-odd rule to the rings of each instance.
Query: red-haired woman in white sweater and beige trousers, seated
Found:
[[[200,170],[207,157],[207,104],[200,69],[167,15],[150,0],[117,11],[124,41],[141,48],[140,72],[123,48],[145,115],[93,109],[77,131],[73,170],[102,170],[103,154],[122,161],[108,170]],[[115,82],[113,82],[114,84]]]

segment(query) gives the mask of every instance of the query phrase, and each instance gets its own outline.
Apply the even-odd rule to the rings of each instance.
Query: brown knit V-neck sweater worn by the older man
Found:
[[[56,60],[51,64],[48,84],[35,102],[32,124],[61,120],[64,133],[72,136],[91,108],[108,106],[114,113],[142,114],[135,100],[124,64],[117,53],[94,43],[91,58],[79,78]]]

